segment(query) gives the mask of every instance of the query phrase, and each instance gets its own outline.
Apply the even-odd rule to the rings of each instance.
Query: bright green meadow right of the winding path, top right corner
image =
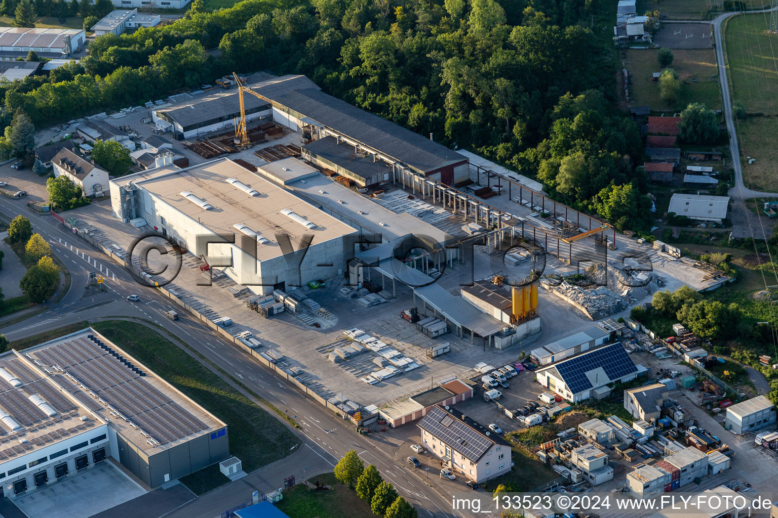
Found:
[[[778,37],[766,33],[769,19],[734,16],[724,32],[732,102],[746,113],[778,114]]]

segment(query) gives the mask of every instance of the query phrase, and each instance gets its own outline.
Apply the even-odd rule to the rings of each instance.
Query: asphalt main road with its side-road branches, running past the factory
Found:
[[[16,214],[30,217],[35,230],[51,243],[54,252],[68,265],[73,282],[71,290],[60,303],[52,305],[40,315],[2,329],[9,340],[80,322],[86,318],[124,315],[149,319],[162,325],[198,353],[202,353],[230,376],[240,379],[272,405],[289,412],[290,415],[296,415],[297,422],[302,426],[300,438],[304,447],[314,452],[317,459],[315,464],[311,464],[310,471],[304,463],[296,460],[296,455],[293,455],[275,464],[275,468],[272,468],[275,475],[272,475],[270,480],[263,478],[261,471],[255,472],[254,477],[249,475],[244,482],[239,480],[223,486],[169,516],[213,518],[226,509],[250,499],[251,485],[262,491],[282,487],[283,473],[296,475],[300,479],[300,475],[305,476],[308,472],[321,472],[322,466],[325,465],[331,469],[348,450],[356,450],[366,464],[375,464],[384,479],[391,481],[398,488],[398,492],[419,509],[421,516],[429,515],[436,518],[462,516],[461,513],[447,512],[447,509],[450,509],[450,499],[443,499],[431,488],[426,487],[416,475],[412,474],[412,471],[395,461],[392,452],[383,444],[370,440],[369,436],[356,434],[350,422],[335,419],[332,412],[322,408],[294,388],[283,384],[269,370],[252,360],[251,356],[246,356],[235,346],[224,342],[219,335],[197,319],[181,315],[180,321],[172,322],[165,318],[164,313],[170,310],[171,306],[166,297],[159,294],[157,290],[139,286],[128,272],[104,259],[99,252],[88,249],[89,245],[74,242],[75,237],[51,216],[34,214],[27,210],[23,203],[15,202],[16,200],[0,199],[0,211],[11,217]],[[99,271],[100,268],[108,272],[107,284],[113,290],[107,294],[97,294],[94,298],[81,299],[86,287],[87,273],[93,270]],[[127,301],[125,297],[128,294],[139,294],[141,301],[137,303]],[[93,304],[103,301],[110,301],[110,304],[90,308]],[[88,311],[84,311],[86,308],[89,308]],[[307,452],[305,457],[309,457],[309,454],[310,452]],[[310,457],[314,458],[314,456]],[[306,472],[300,473],[303,468]]]

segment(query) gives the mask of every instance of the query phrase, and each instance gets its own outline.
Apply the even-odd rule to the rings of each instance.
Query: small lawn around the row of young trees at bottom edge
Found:
[[[370,504],[360,500],[356,491],[335,479],[335,474],[324,473],[309,478],[331,487],[330,491],[316,491],[298,484],[284,492],[284,499],[275,504],[289,518],[364,518],[374,516]]]

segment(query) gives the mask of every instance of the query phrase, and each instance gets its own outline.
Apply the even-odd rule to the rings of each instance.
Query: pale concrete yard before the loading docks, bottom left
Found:
[[[111,461],[14,500],[27,516],[86,518],[145,494]]]

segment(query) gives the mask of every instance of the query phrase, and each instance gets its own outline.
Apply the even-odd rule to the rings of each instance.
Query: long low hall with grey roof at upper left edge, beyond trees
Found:
[[[16,61],[17,57],[27,57],[30,50],[48,59],[71,57],[85,41],[86,34],[78,29],[0,27],[0,58]]]

